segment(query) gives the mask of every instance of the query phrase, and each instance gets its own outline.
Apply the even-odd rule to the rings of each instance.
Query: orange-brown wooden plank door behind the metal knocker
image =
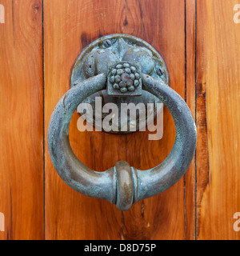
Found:
[[[1,239],[239,239],[240,24],[235,0],[1,0]],[[235,20],[236,21],[236,20]],[[196,155],[169,190],[126,212],[66,186],[50,161],[46,133],[83,47],[106,34],[132,34],[162,55],[170,86],[198,130]],[[102,171],[119,160],[138,169],[162,162],[174,144],[164,110],[160,141],[136,132],[79,132],[74,153]]]

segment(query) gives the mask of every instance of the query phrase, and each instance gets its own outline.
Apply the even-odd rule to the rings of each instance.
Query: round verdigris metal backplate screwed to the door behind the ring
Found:
[[[136,63],[137,66],[139,65],[141,67],[142,74],[148,74],[151,77],[157,78],[162,82],[166,83],[166,85],[169,84],[169,77],[168,72],[166,70],[166,64],[163,61],[160,54],[158,54],[158,52],[152,46],[150,46],[149,43],[131,35],[112,34],[109,36],[98,38],[94,42],[90,43],[89,46],[86,46],[84,50],[82,50],[82,53],[78,56],[72,69],[70,86],[75,86],[79,82],[83,82],[87,78],[94,77],[98,74],[107,74],[109,72],[110,66],[113,66],[114,63],[117,62]],[[138,93],[134,96],[131,93],[126,93],[126,95],[120,94],[118,95],[118,97],[113,97],[113,95],[110,95],[110,90],[102,90],[98,93],[90,95],[90,97],[86,98],[82,102],[89,103],[92,106],[92,116],[88,115],[87,111],[85,113],[85,110],[83,110],[81,107],[78,108],[78,112],[80,114],[85,114],[87,120],[91,120],[91,122],[97,129],[98,125],[97,122],[95,122],[97,113],[95,113],[96,97],[100,97],[102,99],[102,106],[104,106],[106,103],[114,103],[118,106],[119,118],[118,122],[114,125],[118,126],[119,131],[107,131],[109,133],[128,134],[132,132],[130,131],[130,126],[135,126],[136,130],[139,130],[141,128],[142,115],[138,111],[136,118],[128,114],[128,116],[126,117],[126,131],[121,131],[124,130],[121,129],[122,127],[120,125],[121,103],[129,104],[130,102],[132,102],[134,103],[135,106],[137,106],[138,103],[143,103],[145,105],[146,113],[147,104],[152,103],[151,106],[153,107],[149,108],[148,110],[153,112],[152,114],[154,114],[154,118],[158,114],[161,114],[163,110],[163,105],[161,104],[162,106],[158,108],[157,111],[157,104],[160,104],[162,102],[146,90],[142,90],[141,93]],[[104,118],[109,114],[110,113],[102,113],[102,122],[104,122]],[[144,121],[146,121],[146,116],[144,118]]]

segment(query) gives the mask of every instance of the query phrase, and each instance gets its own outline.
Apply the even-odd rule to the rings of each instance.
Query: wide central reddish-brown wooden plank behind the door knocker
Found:
[[[173,7],[174,6],[174,7]],[[46,127],[54,106],[69,89],[75,58],[95,38],[125,33],[150,42],[166,60],[170,86],[185,95],[185,5],[183,1],[44,1]],[[70,142],[78,158],[94,170],[118,160],[148,169],[166,158],[174,144],[174,122],[164,113],[161,141],[147,133],[80,133],[78,114],[70,124]],[[109,202],[87,198],[58,177],[46,154],[46,239],[184,239],[184,180],[125,213]]]

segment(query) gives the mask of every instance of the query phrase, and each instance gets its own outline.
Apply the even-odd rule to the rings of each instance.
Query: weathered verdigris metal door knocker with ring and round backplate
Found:
[[[67,185],[79,193],[112,202],[119,210],[129,210],[134,202],[160,194],[182,178],[194,157],[196,127],[186,102],[168,86],[166,65],[150,44],[126,34],[99,38],[78,57],[70,83],[71,89],[53,111],[47,134],[51,161]],[[99,93],[117,105],[166,105],[174,118],[176,137],[164,162],[150,170],[138,170],[121,161],[97,172],[76,158],[69,141],[70,120],[81,102],[94,104]]]

